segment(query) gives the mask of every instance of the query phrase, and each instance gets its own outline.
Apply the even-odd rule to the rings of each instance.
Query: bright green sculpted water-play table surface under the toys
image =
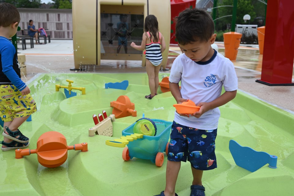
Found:
[[[160,80],[167,76],[160,74]],[[55,84],[85,87],[86,95],[66,99],[63,89]],[[126,90],[104,89],[108,82],[129,81]],[[89,151],[68,151],[68,159],[58,168],[45,168],[36,154],[15,159],[15,152],[0,152],[0,195],[155,195],[164,190],[167,157],[162,167],[150,160],[134,158],[123,161],[123,148],[105,145],[106,140],[119,138],[122,130],[145,117],[173,121],[175,100],[170,92],[152,100],[147,74],[43,74],[29,84],[38,111],[31,122],[20,130],[30,138],[30,149],[47,131],[58,131],[67,145],[88,143]],[[92,115],[111,114],[110,102],[126,95],[135,104],[137,117],[113,122],[113,137],[88,136],[94,126]],[[216,139],[218,168],[205,171],[203,185],[206,195],[292,195],[294,192],[294,115],[243,92],[220,107],[221,118]],[[2,135],[3,129],[0,128]],[[1,136],[2,137],[2,136]],[[3,138],[3,137],[2,137]],[[251,173],[236,166],[229,152],[229,141],[278,156],[277,169],[268,164]],[[177,194],[190,195],[192,174],[189,162],[182,163],[176,184]]]

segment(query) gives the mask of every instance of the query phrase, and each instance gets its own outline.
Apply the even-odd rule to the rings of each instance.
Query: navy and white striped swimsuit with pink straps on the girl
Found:
[[[154,65],[158,66],[162,62],[162,56],[160,51],[160,32],[159,34],[159,42],[154,43],[151,39],[150,33],[147,32],[151,43],[146,44],[146,58]]]

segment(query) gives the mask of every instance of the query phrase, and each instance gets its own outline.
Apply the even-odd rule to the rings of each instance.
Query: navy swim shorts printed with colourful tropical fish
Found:
[[[180,125],[175,121],[171,126],[171,140],[168,145],[168,160],[190,161],[199,170],[217,168],[214,153],[217,129],[200,130]]]

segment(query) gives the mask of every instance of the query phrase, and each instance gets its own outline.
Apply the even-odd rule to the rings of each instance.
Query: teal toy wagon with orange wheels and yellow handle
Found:
[[[133,123],[123,130],[123,137],[107,140],[106,145],[115,147],[125,147],[123,149],[123,160],[128,161],[133,157],[151,160],[156,166],[161,167],[164,162],[165,151],[168,154],[168,139],[171,131],[172,122],[160,119],[151,119],[157,127],[156,136],[148,136],[143,134],[134,134]]]

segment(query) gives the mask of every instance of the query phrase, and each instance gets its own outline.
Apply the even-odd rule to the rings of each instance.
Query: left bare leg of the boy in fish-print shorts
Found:
[[[177,182],[180,168],[181,162],[168,160],[166,165],[166,184],[164,190],[165,196],[175,196],[175,183]]]

